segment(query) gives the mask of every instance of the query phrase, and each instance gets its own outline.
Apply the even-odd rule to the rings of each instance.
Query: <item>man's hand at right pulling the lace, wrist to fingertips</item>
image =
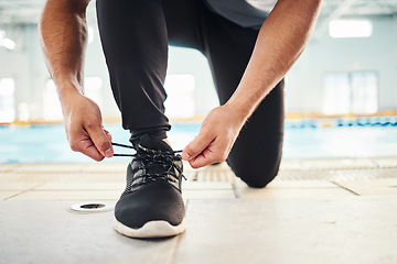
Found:
[[[234,114],[229,106],[213,109],[198,135],[183,150],[182,158],[193,168],[225,161],[244,123],[245,119]]]

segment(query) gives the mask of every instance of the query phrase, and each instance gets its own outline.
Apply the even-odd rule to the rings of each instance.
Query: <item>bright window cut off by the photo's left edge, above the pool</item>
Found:
[[[15,120],[14,90],[15,84],[12,78],[0,79],[0,123]]]

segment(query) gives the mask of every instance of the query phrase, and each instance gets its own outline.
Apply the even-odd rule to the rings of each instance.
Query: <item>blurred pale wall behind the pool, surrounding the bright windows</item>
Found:
[[[289,112],[321,112],[322,77],[337,70],[376,70],[379,76],[379,110],[397,109],[397,18],[373,18],[374,35],[368,38],[315,37],[287,77]],[[95,20],[94,42],[88,45],[85,75],[103,79],[103,113],[119,117]],[[28,103],[30,118],[42,119],[43,91],[50,78],[43,62],[36,25],[6,29],[17,40],[14,51],[0,47],[0,78],[15,79],[15,106]],[[217,105],[205,57],[192,50],[170,47],[169,74],[195,77],[195,113],[206,114]],[[182,111],[182,109],[181,109]],[[19,111],[19,116],[21,112]]]

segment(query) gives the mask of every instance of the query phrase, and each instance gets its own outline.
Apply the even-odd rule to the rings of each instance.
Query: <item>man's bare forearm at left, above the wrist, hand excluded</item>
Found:
[[[41,42],[49,70],[62,99],[82,91],[87,38],[85,10],[89,0],[47,0],[40,22]]]

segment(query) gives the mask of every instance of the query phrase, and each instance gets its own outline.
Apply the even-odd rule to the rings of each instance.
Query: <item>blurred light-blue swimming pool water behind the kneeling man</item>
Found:
[[[105,124],[114,142],[128,144],[129,133],[120,124]],[[198,132],[200,123],[173,123],[169,134],[173,147],[183,148]],[[0,127],[0,163],[94,162],[69,150],[63,124]],[[116,150],[125,152],[125,150]],[[283,158],[333,158],[397,156],[395,125],[333,125],[286,122]],[[107,158],[122,162],[128,157]]]

